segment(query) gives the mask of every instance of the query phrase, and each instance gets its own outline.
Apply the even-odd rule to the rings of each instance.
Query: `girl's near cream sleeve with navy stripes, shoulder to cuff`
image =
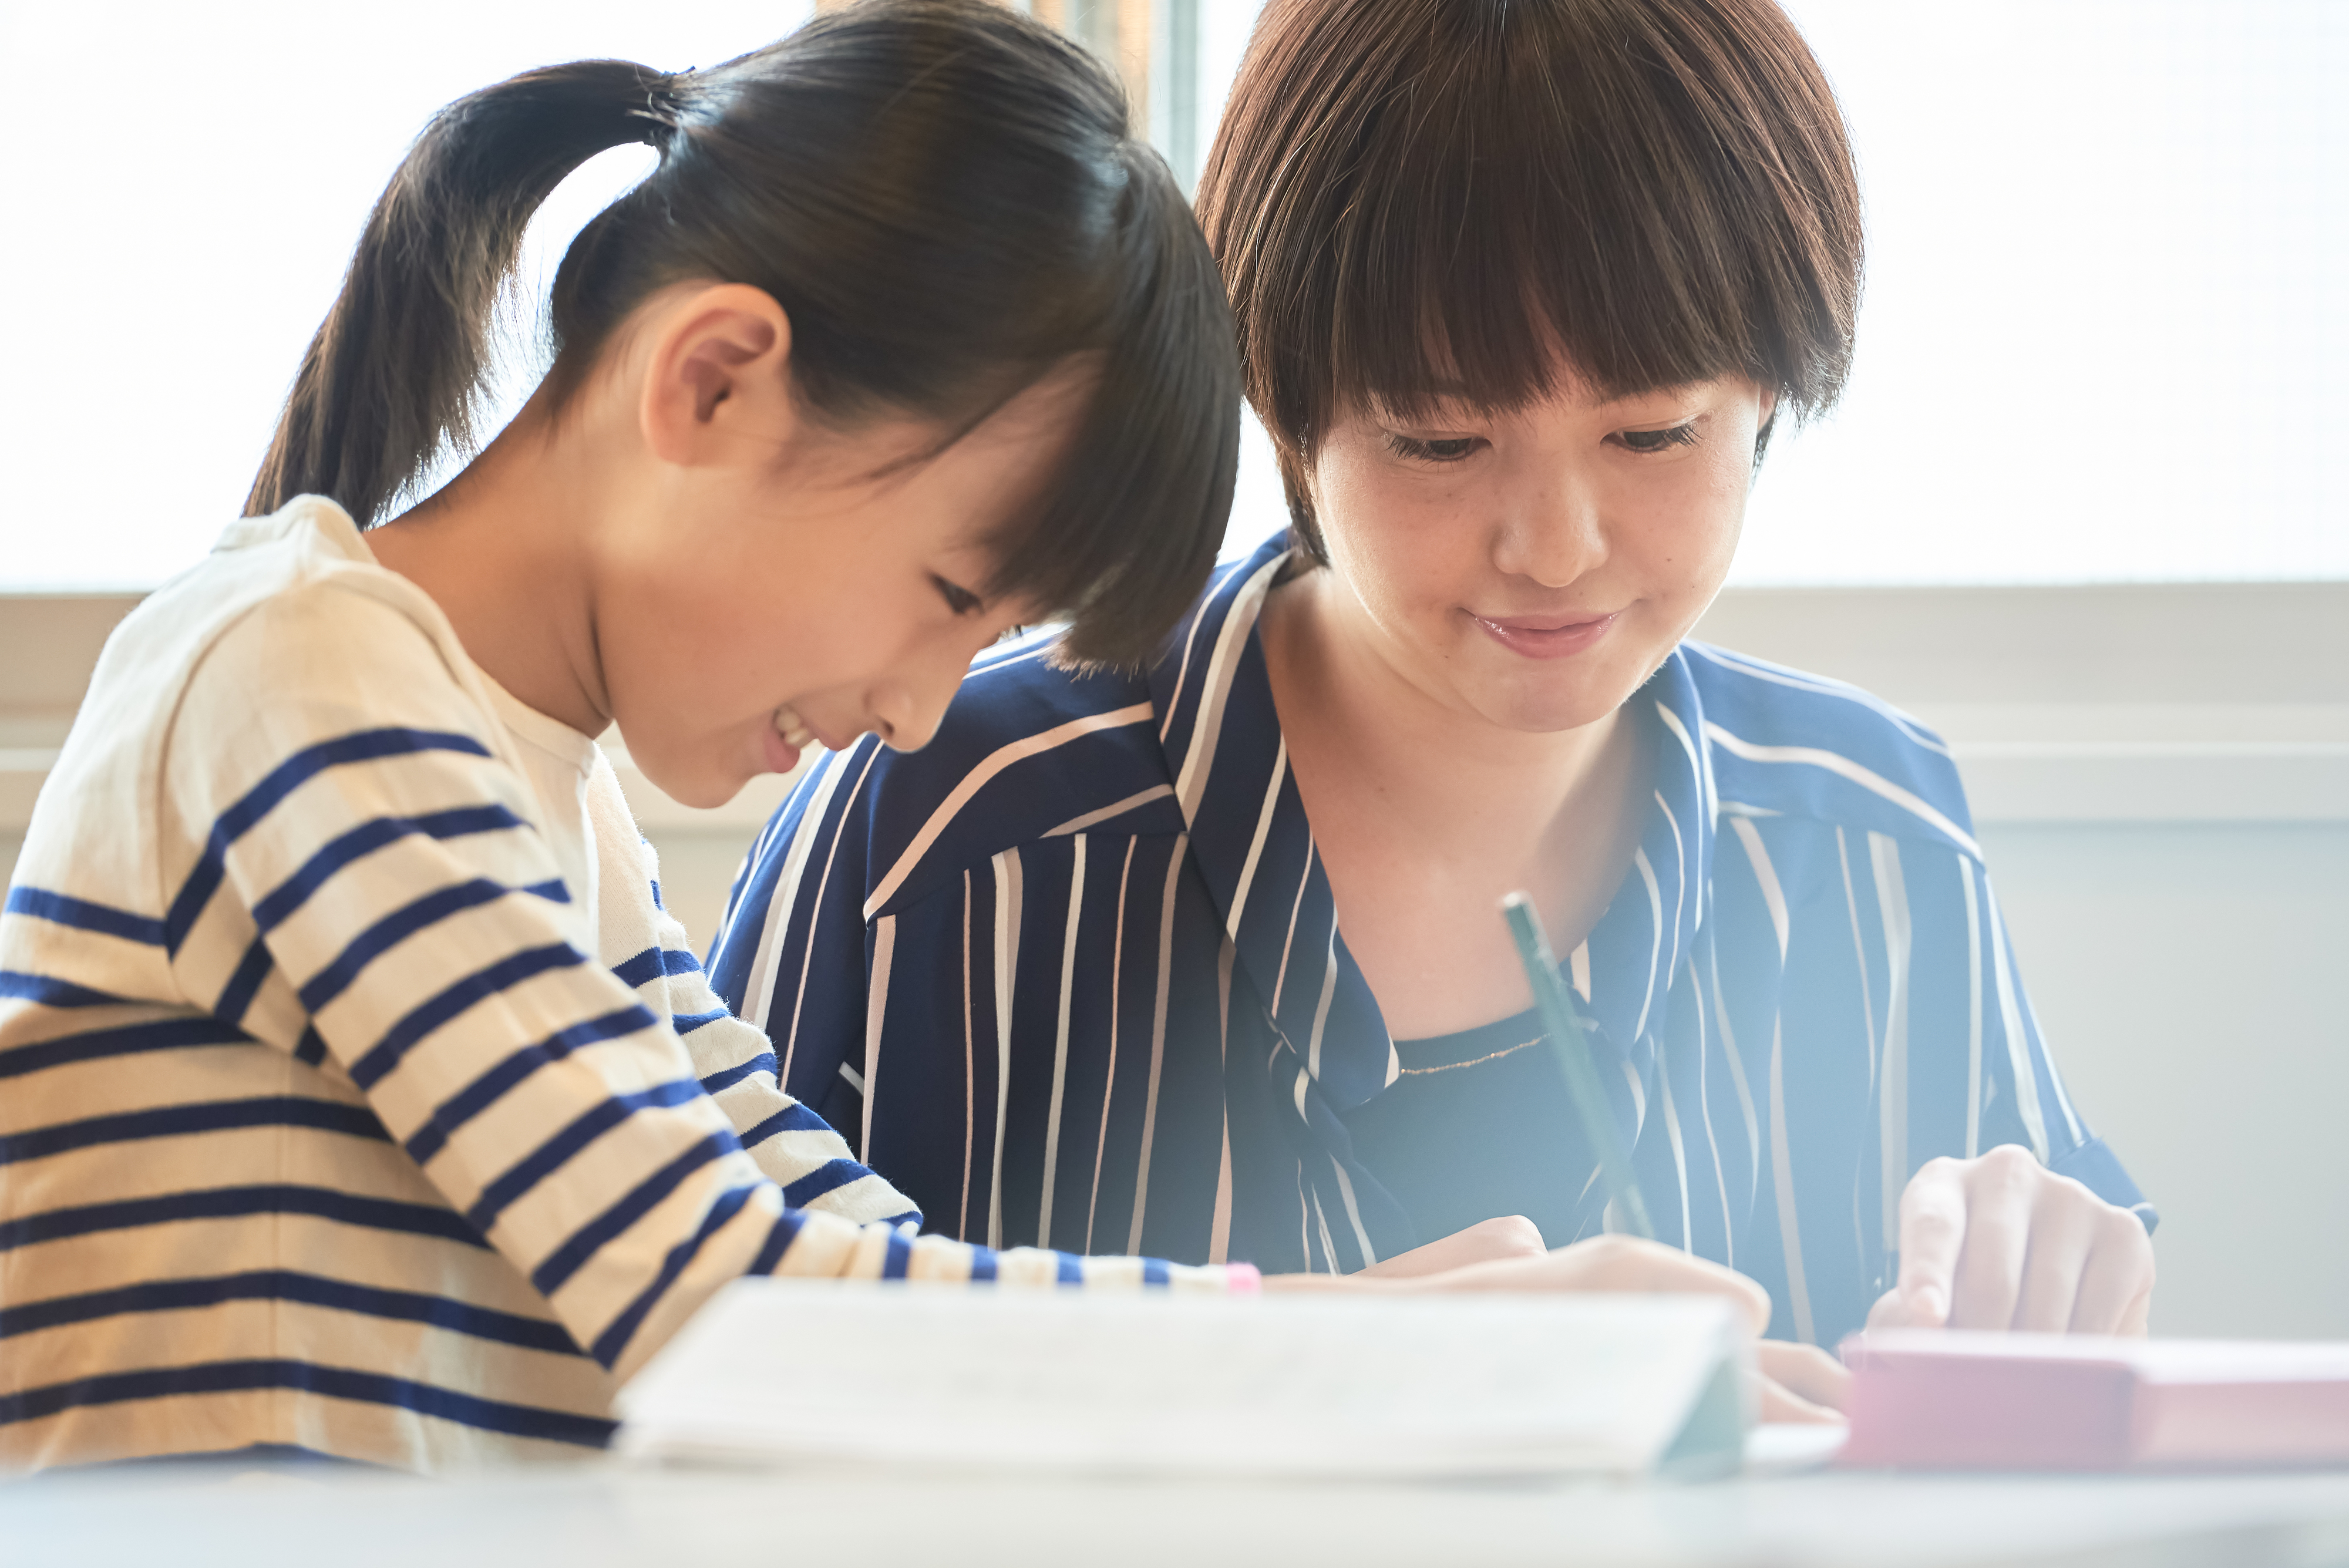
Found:
[[[620,1376],[745,1272],[1167,1277],[792,1207],[672,1021],[590,958],[482,709],[430,638],[366,594],[284,594],[230,629],[162,777],[190,859],[171,901],[188,993],[254,998],[249,1028],[298,1016],[289,1049],[334,1061]]]

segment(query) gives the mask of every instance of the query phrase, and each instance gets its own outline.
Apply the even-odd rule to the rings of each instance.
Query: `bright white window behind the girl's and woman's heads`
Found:
[[[1788,5],[1853,122],[1870,289],[1851,392],[1771,451],[1738,580],[2349,577],[2349,5]],[[1254,0],[1029,7],[1113,59],[1196,171]],[[0,589],[202,554],[437,106],[557,59],[712,63],[803,14],[0,7],[12,117],[47,127],[0,246]],[[531,277],[646,160],[557,192]],[[1257,437],[1231,545],[1280,516]]]

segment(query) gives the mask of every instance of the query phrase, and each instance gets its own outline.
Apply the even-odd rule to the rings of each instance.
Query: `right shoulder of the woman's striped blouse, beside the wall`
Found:
[[[1882,697],[1694,641],[1654,685],[1665,725],[1701,749],[1722,812],[1811,817],[1980,857],[1950,746]]]

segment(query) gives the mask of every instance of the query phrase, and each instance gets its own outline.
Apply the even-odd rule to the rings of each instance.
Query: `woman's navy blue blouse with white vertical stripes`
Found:
[[[822,758],[745,864],[714,986],[935,1228],[1266,1270],[1435,1239],[1351,1148],[1398,1054],[1285,765],[1257,636],[1280,563],[1226,568],[1144,674],[991,650],[928,749]],[[1929,730],[1703,643],[1633,702],[1654,805],[1569,969],[1663,1239],[1835,1343],[1936,1155],[2022,1143],[2138,1202],[2041,1045]],[[1597,1183],[1574,1214],[1602,1228]]]

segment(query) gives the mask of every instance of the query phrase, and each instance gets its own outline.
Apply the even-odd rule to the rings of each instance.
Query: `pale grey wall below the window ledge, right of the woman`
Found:
[[[2161,1333],[2349,1338],[2349,824],[1990,824],[2072,1099],[2161,1207]]]

